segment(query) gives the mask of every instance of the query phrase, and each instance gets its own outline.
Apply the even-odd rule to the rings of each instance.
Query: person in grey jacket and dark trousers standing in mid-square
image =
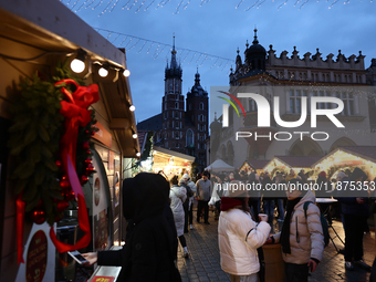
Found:
[[[197,222],[200,222],[201,210],[203,209],[203,223],[209,223],[209,200],[212,194],[211,182],[209,180],[209,171],[203,171],[202,179],[196,182],[197,189]]]

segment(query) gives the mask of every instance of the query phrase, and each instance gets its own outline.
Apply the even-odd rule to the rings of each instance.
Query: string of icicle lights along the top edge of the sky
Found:
[[[82,8],[88,9],[92,8],[92,10],[95,10],[96,8],[98,8],[100,6],[102,6],[102,3],[106,3],[105,8],[102,10],[102,12],[98,14],[100,17],[106,12],[113,12],[115,7],[119,3],[121,0],[76,0],[73,4],[71,4],[72,0],[60,0],[61,2],[63,2],[66,7],[69,7],[72,11],[74,10],[74,8],[76,6],[79,6],[81,2],[81,6],[79,7],[79,9],[74,10],[74,12],[79,12],[82,10]],[[155,8],[155,10],[163,8],[164,6],[166,6],[167,3],[169,3],[171,0],[161,0]],[[202,7],[205,3],[208,3],[210,0],[200,0],[200,4],[199,7]],[[253,0],[254,1],[254,0]],[[248,8],[244,9],[244,11],[249,11],[251,9],[259,9],[267,0],[255,0],[253,2],[252,6],[249,6]],[[283,6],[285,6],[288,3],[289,0],[285,0],[283,3],[279,4],[278,7],[278,11],[280,9],[283,8]],[[296,0],[295,3],[293,4],[293,7],[297,7],[299,3],[301,3],[303,0]],[[300,7],[299,10],[301,10],[310,0],[305,0]],[[334,0],[333,2],[330,3],[328,9],[332,9],[334,7],[334,4],[336,4],[340,0]],[[174,14],[178,14],[180,12],[180,8],[182,7],[182,10],[186,10],[188,8],[188,6],[190,4],[191,0],[188,0],[185,3],[185,0],[181,0],[180,2],[178,2],[175,12],[173,12]],[[234,9],[239,9],[241,4],[243,4],[246,1],[244,0],[240,0],[240,2],[234,7]],[[271,1],[272,3],[274,3],[274,0]],[[317,1],[320,2],[320,1]],[[326,2],[330,2],[328,0]],[[362,1],[361,1],[362,2]],[[370,3],[374,2],[374,0],[369,1]],[[128,11],[132,10],[133,7],[135,8],[135,13],[138,13],[139,11],[147,11],[149,10],[149,8],[152,6],[154,6],[155,0],[143,0],[139,4],[138,4],[138,0],[128,0],[125,4],[123,4],[122,10],[127,9]],[[348,4],[349,0],[345,0],[343,2],[343,4]],[[145,7],[143,9],[143,7]]]

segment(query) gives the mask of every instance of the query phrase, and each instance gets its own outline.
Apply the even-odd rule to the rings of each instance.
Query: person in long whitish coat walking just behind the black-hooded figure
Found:
[[[186,238],[184,237],[184,222],[185,212],[182,208],[182,202],[187,199],[187,189],[184,186],[179,186],[178,176],[174,176],[170,179],[171,188],[169,190],[170,208],[174,213],[176,232],[178,234],[180,244],[184,249],[182,257],[188,258],[189,252],[187,248]]]

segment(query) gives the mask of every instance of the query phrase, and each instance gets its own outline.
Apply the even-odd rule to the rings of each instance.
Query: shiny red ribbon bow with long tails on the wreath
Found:
[[[85,203],[85,196],[82,191],[82,187],[75,171],[76,143],[79,126],[86,126],[91,121],[92,111],[87,107],[100,100],[98,86],[92,84],[87,87],[80,86],[73,80],[62,80],[55,83],[59,84],[74,84],[76,91],[70,93],[65,87],[61,88],[61,92],[65,95],[67,101],[62,101],[62,109],[60,113],[65,117],[65,134],[60,142],[60,155],[62,159],[62,167],[67,175],[67,179],[79,201],[79,226],[84,232],[84,236],[79,240],[76,244],[66,244],[60,242],[56,238],[53,227],[50,229],[50,237],[59,252],[73,251],[86,247],[91,241],[91,229],[88,222],[88,216]],[[17,200],[17,227],[18,227],[18,263],[24,263],[22,258],[22,236],[23,236],[23,220],[24,220],[24,201],[22,201],[22,195],[19,195]]]

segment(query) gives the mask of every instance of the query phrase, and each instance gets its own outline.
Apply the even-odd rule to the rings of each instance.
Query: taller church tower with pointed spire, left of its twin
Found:
[[[161,103],[163,147],[185,153],[185,102],[181,94],[182,70],[176,60],[175,36],[171,61],[165,69],[165,95]]]

